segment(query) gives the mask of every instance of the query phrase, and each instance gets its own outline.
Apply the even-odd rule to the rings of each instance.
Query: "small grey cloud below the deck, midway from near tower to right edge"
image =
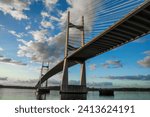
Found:
[[[104,68],[121,68],[123,64],[119,60],[109,60],[102,64]]]

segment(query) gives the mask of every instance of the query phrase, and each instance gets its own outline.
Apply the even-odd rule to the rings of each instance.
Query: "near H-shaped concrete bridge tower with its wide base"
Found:
[[[70,22],[70,12],[68,12],[67,18],[67,30],[66,30],[66,43],[65,43],[65,54],[64,54],[64,65],[63,65],[63,76],[62,76],[62,84],[61,84],[61,93],[87,93],[86,89],[86,64],[85,61],[81,61],[78,59],[69,60],[68,59],[68,48],[75,49],[69,45],[69,29],[76,28],[81,31],[81,46],[84,46],[84,16],[82,16],[82,25],[74,25]],[[81,64],[81,78],[80,85],[68,85],[68,63],[71,61],[78,62]]]

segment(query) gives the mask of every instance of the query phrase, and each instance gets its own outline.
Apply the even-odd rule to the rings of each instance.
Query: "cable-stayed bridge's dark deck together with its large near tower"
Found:
[[[127,7],[126,7],[127,9]],[[107,13],[106,13],[107,14]],[[115,14],[114,14],[115,15]],[[41,83],[44,83],[52,76],[63,71],[63,78],[61,84],[62,93],[75,93],[86,92],[86,64],[85,61],[95,56],[101,55],[114,48],[122,46],[126,43],[134,41],[144,35],[150,33],[150,1],[146,1],[132,12],[127,14],[121,20],[110,26],[108,29],[101,32],[92,40],[85,43],[85,18],[82,17],[82,24],[75,25],[71,23],[70,12],[68,12],[67,18],[67,30],[66,30],[66,43],[65,43],[65,57],[64,59],[50,69],[45,75],[41,77],[36,84],[38,88]],[[98,27],[98,26],[97,26]],[[80,47],[74,45],[76,41],[71,41],[70,29],[75,28],[81,32]],[[76,36],[76,34],[75,34]],[[73,51],[74,50],[74,51]],[[71,54],[69,54],[70,51]],[[68,85],[68,68],[76,64],[81,64],[81,86],[69,86]]]

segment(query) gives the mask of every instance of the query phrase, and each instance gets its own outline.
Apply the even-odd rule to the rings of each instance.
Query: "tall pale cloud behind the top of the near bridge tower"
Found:
[[[87,7],[88,9],[94,9],[94,6],[92,5],[91,0],[67,0],[67,2],[70,4],[71,7],[67,9],[65,12],[59,12],[61,18],[60,18],[60,25],[66,26],[67,21],[67,13],[70,11],[70,19],[71,23],[80,25],[81,24],[81,18],[84,16],[84,29],[87,31],[90,31],[92,29],[92,23],[94,20],[94,10],[90,11],[90,13],[87,13]],[[92,16],[93,15],[93,16]],[[93,17],[93,18],[92,18]],[[75,30],[70,30],[70,32],[73,33],[79,33]]]

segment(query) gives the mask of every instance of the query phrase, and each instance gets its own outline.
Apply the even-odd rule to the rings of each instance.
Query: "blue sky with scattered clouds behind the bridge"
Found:
[[[0,0],[0,84],[33,86],[43,60],[52,68],[63,59],[68,10],[74,24],[80,24],[84,16],[88,42],[144,2],[91,1]],[[70,33],[79,32],[72,29]],[[150,87],[149,45],[148,34],[86,61],[88,85]],[[59,84],[61,78],[62,74],[54,76],[50,84]],[[70,84],[79,84],[79,79],[80,65],[70,68]]]

